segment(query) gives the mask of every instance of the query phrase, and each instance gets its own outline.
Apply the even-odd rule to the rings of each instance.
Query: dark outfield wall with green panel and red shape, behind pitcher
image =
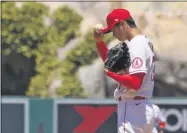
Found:
[[[164,133],[187,132],[187,98],[155,98]],[[2,133],[117,133],[116,101],[3,97]]]

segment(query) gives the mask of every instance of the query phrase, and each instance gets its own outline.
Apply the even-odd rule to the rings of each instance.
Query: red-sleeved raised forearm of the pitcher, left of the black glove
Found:
[[[96,42],[96,47],[97,47],[99,56],[101,57],[103,61],[105,61],[107,58],[107,53],[108,53],[108,48],[106,44],[104,43],[104,41]]]

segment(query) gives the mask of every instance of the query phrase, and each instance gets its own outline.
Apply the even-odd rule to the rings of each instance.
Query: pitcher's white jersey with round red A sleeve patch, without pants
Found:
[[[154,87],[154,51],[151,41],[144,35],[135,36],[127,42],[131,56],[131,66],[129,74],[139,72],[146,73],[142,85],[138,91],[126,89],[125,86],[120,85],[114,92],[114,97],[119,96],[130,98],[134,96],[152,97]],[[123,87],[123,88],[122,88]]]

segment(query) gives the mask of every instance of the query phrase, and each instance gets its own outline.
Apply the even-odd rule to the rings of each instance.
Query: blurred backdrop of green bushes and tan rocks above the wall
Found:
[[[106,26],[112,9],[126,8],[154,44],[154,97],[186,98],[186,7],[186,2],[1,2],[1,94],[52,100],[113,98],[117,84],[103,71],[92,27]],[[104,39],[109,48],[118,43],[112,34]],[[40,128],[37,133],[50,133]]]

